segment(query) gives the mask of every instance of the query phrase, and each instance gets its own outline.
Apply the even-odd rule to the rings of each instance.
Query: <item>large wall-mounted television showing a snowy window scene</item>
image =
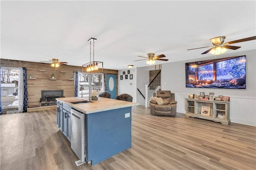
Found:
[[[187,88],[246,88],[246,56],[186,63]]]

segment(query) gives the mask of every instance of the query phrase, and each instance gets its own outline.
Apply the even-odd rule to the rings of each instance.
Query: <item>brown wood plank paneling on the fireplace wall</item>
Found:
[[[26,67],[27,76],[32,75],[35,80],[27,77],[28,87],[28,106],[40,105],[41,90],[64,90],[65,97],[74,97],[74,80],[68,80],[74,77],[74,72],[82,72],[82,66],[60,65],[58,70],[50,66],[50,63],[37,63],[28,61],[0,59],[2,67]],[[46,70],[45,72],[39,70]],[[101,69],[99,69],[101,71]],[[60,72],[65,71],[65,72]],[[106,74],[116,74],[116,92],[118,92],[118,70],[103,69],[106,84]],[[50,80],[52,73],[56,80]],[[106,90],[106,86],[105,86]],[[116,94],[117,95],[117,94]]]

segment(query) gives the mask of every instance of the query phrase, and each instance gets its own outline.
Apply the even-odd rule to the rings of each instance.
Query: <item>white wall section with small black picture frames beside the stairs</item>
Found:
[[[130,74],[132,74],[132,79],[130,79],[130,74],[128,74],[128,79],[125,79],[125,74],[130,70]],[[123,75],[123,72],[125,74]],[[120,80],[120,76],[123,75],[123,80]],[[132,102],[136,102],[136,68],[128,68],[125,70],[118,70],[118,95],[120,94],[130,94],[132,96]]]

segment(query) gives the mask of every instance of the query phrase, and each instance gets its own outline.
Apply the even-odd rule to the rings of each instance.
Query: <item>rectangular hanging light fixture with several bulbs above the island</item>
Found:
[[[88,40],[88,42],[90,42],[90,63],[86,63],[86,64],[82,65],[82,72],[84,72],[84,71],[86,71],[86,72],[100,72],[100,71],[98,71],[98,69],[99,69],[98,65],[102,64],[101,72],[103,73],[103,62],[94,61],[94,41],[96,41],[96,38],[90,38]],[[93,43],[93,54],[92,54],[92,51],[91,51],[92,43]],[[91,61],[91,54],[93,55],[93,61]]]

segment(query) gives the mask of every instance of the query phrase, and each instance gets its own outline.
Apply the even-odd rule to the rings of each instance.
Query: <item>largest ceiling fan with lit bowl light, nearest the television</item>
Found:
[[[238,39],[238,40],[235,40],[235,41],[229,41],[227,43],[224,43],[225,38],[226,38],[225,36],[219,36],[219,37],[211,38],[210,40],[212,41],[213,45],[212,46],[207,46],[207,47],[212,47],[212,48],[208,49],[207,51],[204,51],[204,53],[202,53],[202,54],[210,53],[210,54],[213,54],[213,55],[219,55],[219,54],[223,54],[226,51],[228,51],[227,49],[236,50],[236,49],[239,49],[240,47],[232,46],[232,45],[229,45],[229,44],[254,40],[254,39],[256,39],[256,36],[243,38],[243,39]],[[207,48],[207,47],[200,47],[200,48],[195,48],[195,49],[202,49],[202,48]],[[194,49],[188,49],[188,50],[194,50]]]

